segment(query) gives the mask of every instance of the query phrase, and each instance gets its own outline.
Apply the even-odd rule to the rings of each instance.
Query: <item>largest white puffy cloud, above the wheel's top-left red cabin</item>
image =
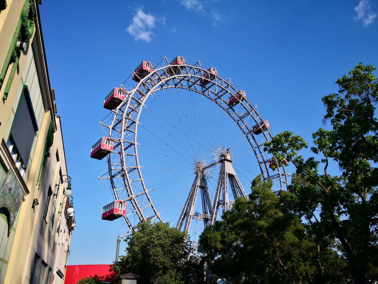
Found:
[[[127,27],[126,31],[131,34],[135,40],[151,41],[152,29],[155,28],[156,18],[152,14],[145,14],[141,8],[136,10],[133,20]]]

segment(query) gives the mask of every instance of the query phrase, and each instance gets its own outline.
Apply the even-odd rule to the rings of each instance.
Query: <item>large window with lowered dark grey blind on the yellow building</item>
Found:
[[[28,87],[24,86],[13,120],[8,147],[9,144],[12,145],[13,152],[17,153],[18,162],[22,161],[25,168],[28,165],[30,151],[37,131],[37,120],[31,104]]]

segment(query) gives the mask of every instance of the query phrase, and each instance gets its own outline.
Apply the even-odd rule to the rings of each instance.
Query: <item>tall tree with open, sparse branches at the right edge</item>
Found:
[[[287,160],[296,167],[290,202],[311,225],[319,273],[324,268],[322,247],[330,247],[325,242],[335,239],[335,250],[344,257],[350,279],[358,284],[378,278],[378,82],[374,70],[358,64],[336,81],[337,93],[322,98],[324,123],[330,123],[330,130],[320,128],[313,134],[311,151],[321,157],[319,161],[299,155],[308,144],[289,131],[265,147],[278,161]],[[340,176],[327,172],[333,161]]]

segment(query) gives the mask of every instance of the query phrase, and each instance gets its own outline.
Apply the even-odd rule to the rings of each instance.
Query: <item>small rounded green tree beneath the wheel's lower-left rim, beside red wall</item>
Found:
[[[169,224],[142,222],[129,237],[126,255],[112,266],[118,275],[140,275],[139,284],[184,283],[184,259],[188,255],[187,234]]]

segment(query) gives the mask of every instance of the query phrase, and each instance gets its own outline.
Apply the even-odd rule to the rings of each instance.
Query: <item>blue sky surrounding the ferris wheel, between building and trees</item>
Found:
[[[359,62],[378,66],[377,13],[376,1],[358,0],[157,0],[144,1],[143,6],[120,0],[70,5],[43,1],[46,57],[62,117],[76,212],[68,264],[106,264],[115,259],[122,226],[101,220],[101,208],[112,195],[97,179],[105,161],[90,159],[89,153],[104,134],[98,124],[108,114],[102,108],[104,97],[142,60],[158,64],[163,56],[182,55],[189,63],[200,60],[205,67],[216,67],[222,77],[231,77],[238,89],[246,90],[248,100],[270,121],[273,134],[290,130],[311,142],[311,134],[323,126],[321,97],[337,91],[337,78]],[[164,95],[172,99],[177,93]],[[150,130],[153,114],[164,112],[158,98],[143,119]],[[197,98],[189,95],[189,100]],[[148,154],[152,136],[147,130],[143,135]],[[245,147],[237,143],[237,135],[231,138],[236,141],[234,154]],[[143,162],[153,165],[148,159]],[[245,172],[249,166],[253,168],[253,163],[243,166]],[[175,173],[161,173],[159,180],[147,178],[148,186],[159,187],[173,178]],[[248,178],[245,173],[246,188]],[[189,176],[176,186],[190,183],[190,187],[192,180]],[[160,205],[173,196],[170,187],[162,190],[154,196]],[[177,215],[179,200],[174,201],[176,208],[164,211],[165,218],[174,219],[169,216]],[[124,248],[122,242],[121,254]]]

